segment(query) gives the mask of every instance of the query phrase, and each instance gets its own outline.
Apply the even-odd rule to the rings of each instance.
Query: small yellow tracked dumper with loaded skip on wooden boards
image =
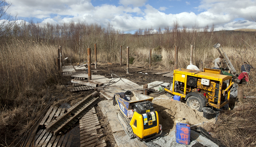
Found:
[[[120,96],[121,95],[121,96]],[[117,118],[129,138],[150,140],[162,133],[158,113],[153,108],[152,97],[135,94],[136,100],[129,101],[124,94],[116,93],[113,105],[119,106]]]

